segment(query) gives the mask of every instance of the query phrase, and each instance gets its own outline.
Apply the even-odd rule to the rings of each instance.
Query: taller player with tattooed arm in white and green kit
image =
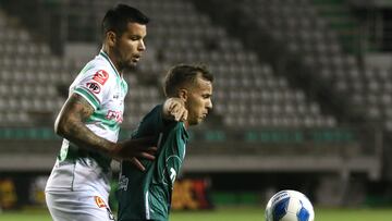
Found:
[[[46,186],[54,221],[113,220],[108,206],[111,159],[128,160],[139,170],[139,159],[155,159],[151,138],[118,143],[127,93],[123,71],[143,56],[148,21],[125,4],[109,10],[102,21],[102,49],[70,87],[54,126],[64,139]]]

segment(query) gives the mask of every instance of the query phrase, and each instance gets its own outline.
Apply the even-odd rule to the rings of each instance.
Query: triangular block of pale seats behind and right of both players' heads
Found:
[[[269,64],[260,62],[253,51],[244,49],[238,39],[230,37],[207,15],[197,12],[192,2],[132,3],[152,19],[148,30],[148,50],[156,58],[142,62],[140,70],[155,72],[152,74],[159,77],[170,64],[208,64],[216,75],[215,113],[222,116],[223,125],[335,126],[333,116],[323,115],[317,103],[309,102],[301,90],[291,88],[285,78],[275,76]]]

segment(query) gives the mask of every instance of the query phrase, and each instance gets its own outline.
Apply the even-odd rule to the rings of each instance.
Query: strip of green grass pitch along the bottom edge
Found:
[[[318,209],[316,221],[390,221],[390,209]],[[50,221],[47,211],[3,212],[0,221]],[[222,208],[211,211],[175,211],[171,221],[264,221],[262,208]]]

